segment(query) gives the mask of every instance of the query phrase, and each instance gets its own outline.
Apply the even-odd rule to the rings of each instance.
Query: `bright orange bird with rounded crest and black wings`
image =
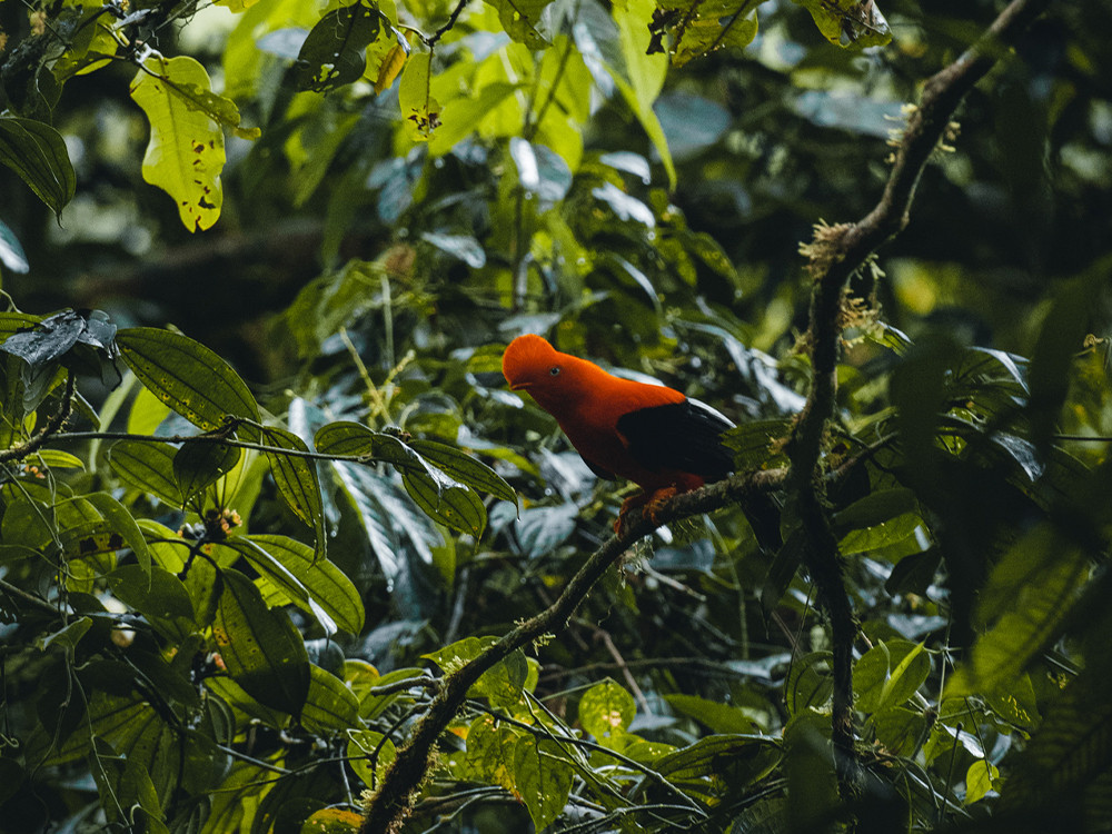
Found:
[[[734,469],[722,433],[733,424],[675,388],[608,374],[556,350],[540,336],[514,339],[502,357],[513,390],[526,390],[556,418],[576,451],[600,478],[626,478],[642,488],[626,513],[648,505],[649,517],[678,493],[722,480]]]

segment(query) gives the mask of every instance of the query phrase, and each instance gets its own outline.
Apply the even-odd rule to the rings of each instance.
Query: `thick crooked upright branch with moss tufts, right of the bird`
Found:
[[[816,228],[804,247],[815,279],[811,299],[808,345],[813,369],[811,393],[790,445],[791,488],[806,535],[805,564],[820,603],[831,620],[833,644],[833,741],[844,800],[855,793],[858,768],[853,747],[853,642],[857,624],[845,587],[843,560],[830,529],[822,478],[823,436],[834,415],[836,368],[842,336],[842,299],[850,278],[887,239],[907,226],[911,203],[923,169],[945,138],[954,112],[1050,0],[1014,0],[985,34],[924,87],[897,147],[892,172],[876,207],[861,221]]]

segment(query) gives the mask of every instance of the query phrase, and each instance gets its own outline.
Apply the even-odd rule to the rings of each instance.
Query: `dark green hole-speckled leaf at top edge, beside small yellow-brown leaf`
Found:
[[[358,81],[367,66],[367,47],[380,26],[378,4],[366,0],[327,12],[301,43],[298,87],[327,92]]]

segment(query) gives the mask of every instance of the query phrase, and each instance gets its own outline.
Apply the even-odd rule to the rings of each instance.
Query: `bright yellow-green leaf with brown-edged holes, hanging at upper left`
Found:
[[[189,231],[220,217],[224,131],[212,109],[208,72],[193,58],[148,58],[131,82],[131,98],[150,122],[143,179],[173,198]]]

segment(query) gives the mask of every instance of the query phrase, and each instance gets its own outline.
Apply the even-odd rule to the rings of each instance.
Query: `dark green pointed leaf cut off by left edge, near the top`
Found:
[[[66,203],[73,199],[77,177],[66,142],[57,130],[44,122],[13,116],[0,117],[0,163],[16,171],[56,215],[61,215]],[[26,265],[27,258],[22,261]],[[7,259],[4,262],[8,264]],[[27,271],[26,266],[18,269],[8,264],[8,267]]]

